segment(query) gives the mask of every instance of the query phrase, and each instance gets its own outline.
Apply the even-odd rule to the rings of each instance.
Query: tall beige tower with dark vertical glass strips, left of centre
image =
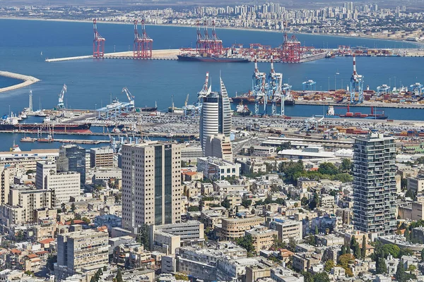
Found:
[[[181,148],[161,142],[122,147],[122,227],[181,221]]]

